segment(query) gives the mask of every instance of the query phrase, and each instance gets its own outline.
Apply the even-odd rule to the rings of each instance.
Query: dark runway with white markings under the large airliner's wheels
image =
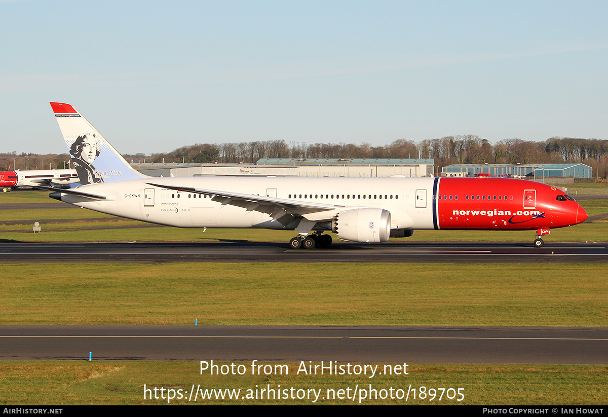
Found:
[[[0,241],[0,262],[390,262],[605,263],[605,243],[337,242],[328,249],[291,250],[286,243],[21,243]]]

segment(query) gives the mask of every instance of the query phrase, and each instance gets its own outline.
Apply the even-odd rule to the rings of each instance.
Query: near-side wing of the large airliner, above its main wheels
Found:
[[[285,215],[285,213],[306,215],[309,213],[328,212],[331,210],[343,209],[345,207],[344,205],[288,200],[253,194],[209,190],[207,188],[176,187],[175,185],[154,184],[153,182],[147,182],[146,184],[153,185],[154,187],[168,188],[169,190],[185,191],[187,193],[212,196],[213,201],[221,202],[222,205],[236,205],[238,207],[247,209],[247,211],[268,213],[275,218],[280,217],[280,215]]]

